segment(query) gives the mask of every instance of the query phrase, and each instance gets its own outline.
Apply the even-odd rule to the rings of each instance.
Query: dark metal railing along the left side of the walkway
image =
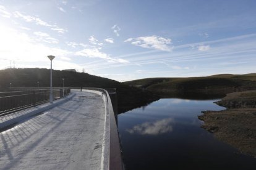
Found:
[[[49,87],[10,88],[0,92],[0,116],[49,101]],[[64,88],[64,96],[70,93]],[[61,87],[53,88],[53,99],[63,97]]]

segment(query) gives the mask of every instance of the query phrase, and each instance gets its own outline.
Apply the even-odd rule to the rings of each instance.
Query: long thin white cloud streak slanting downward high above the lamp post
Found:
[[[61,33],[61,34],[64,34],[67,32],[67,30],[65,30],[64,28],[59,28],[59,26],[57,25],[51,25],[48,22],[45,22],[38,17],[33,17],[31,15],[23,15],[19,11],[15,11],[13,14],[14,14],[14,17],[22,18],[25,22],[33,22],[36,25],[49,27],[51,28],[51,30],[58,31],[58,33]]]

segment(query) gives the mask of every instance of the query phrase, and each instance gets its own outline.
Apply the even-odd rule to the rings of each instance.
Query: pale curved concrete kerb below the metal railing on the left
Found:
[[[61,105],[62,103],[67,102],[67,100],[72,99],[75,95],[76,95],[75,93],[71,92],[69,95],[67,95],[66,97],[64,97],[62,99],[54,100],[54,103],[52,103],[52,104],[46,105],[46,106],[38,108],[36,110],[28,111],[24,115],[20,115],[20,116],[17,116],[15,118],[4,121],[4,122],[0,123],[0,129],[2,129],[4,127],[7,127],[7,126],[10,126],[10,125],[15,124],[15,123],[19,123],[19,121],[22,121],[23,119],[26,119],[30,116],[33,116],[33,115],[36,115],[36,114],[41,113],[43,111],[54,108],[57,105]],[[12,113],[12,114],[15,114],[15,113]]]

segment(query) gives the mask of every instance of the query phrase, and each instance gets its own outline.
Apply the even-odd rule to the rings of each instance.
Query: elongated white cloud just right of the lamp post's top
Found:
[[[129,63],[128,60],[124,59],[114,59],[110,57],[108,54],[105,54],[103,52],[100,52],[99,49],[93,48],[93,49],[83,49],[82,51],[75,52],[75,55],[90,57],[90,58],[100,58],[108,60],[108,62],[112,63]]]

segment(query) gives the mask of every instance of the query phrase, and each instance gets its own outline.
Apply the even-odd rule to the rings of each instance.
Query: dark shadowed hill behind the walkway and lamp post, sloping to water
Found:
[[[49,74],[50,70],[41,68],[9,68],[0,70],[0,88],[9,87],[10,83],[12,83],[12,87],[36,87],[38,81],[40,87],[48,87]],[[65,79],[65,87],[116,88],[118,113],[123,113],[132,108],[141,107],[158,100],[158,97],[151,92],[142,91],[142,89],[137,87],[129,87],[112,79],[101,78],[87,73],[53,70],[53,86],[61,87],[62,78]]]

